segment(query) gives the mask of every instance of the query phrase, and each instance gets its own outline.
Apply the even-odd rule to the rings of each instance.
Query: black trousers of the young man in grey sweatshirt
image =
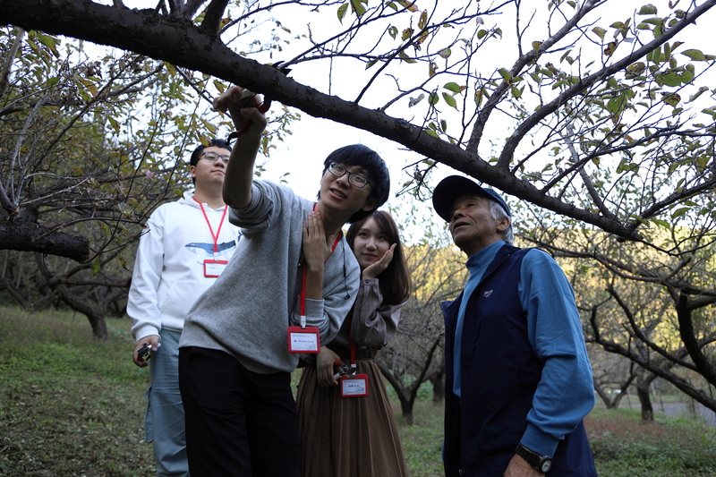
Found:
[[[211,349],[179,350],[192,477],[298,477],[298,417],[286,372],[258,374]]]

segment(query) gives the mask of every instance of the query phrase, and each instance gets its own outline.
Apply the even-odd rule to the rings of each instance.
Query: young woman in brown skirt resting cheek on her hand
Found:
[[[410,275],[396,223],[374,211],[345,235],[361,267],[354,307],[338,335],[311,355],[298,387],[301,466],[308,477],[407,475],[388,393],[376,352],[396,334],[410,294]],[[341,396],[341,369],[355,356],[367,377],[367,396]]]

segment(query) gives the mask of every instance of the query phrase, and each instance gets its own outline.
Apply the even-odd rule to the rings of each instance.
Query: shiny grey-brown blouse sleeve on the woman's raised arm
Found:
[[[359,346],[382,348],[395,336],[405,302],[383,304],[378,278],[361,280],[351,319],[351,337]]]

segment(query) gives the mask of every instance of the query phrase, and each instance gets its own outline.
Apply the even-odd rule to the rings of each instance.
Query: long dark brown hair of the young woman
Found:
[[[386,234],[388,243],[396,244],[396,249],[393,251],[393,260],[390,260],[388,268],[380,272],[378,284],[380,294],[383,295],[383,302],[397,305],[405,302],[410,296],[411,283],[403,243],[400,242],[400,235],[393,217],[390,217],[390,214],[383,210],[373,210],[367,217],[354,222],[348,227],[348,232],[345,233],[345,240],[353,250],[355,235],[361,230],[366,220],[371,217],[375,220],[379,230]]]

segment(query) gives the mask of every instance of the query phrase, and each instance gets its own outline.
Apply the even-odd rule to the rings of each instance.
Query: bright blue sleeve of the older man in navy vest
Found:
[[[553,456],[559,440],[594,406],[592,366],[574,292],[550,255],[536,249],[525,254],[519,293],[530,344],[544,364],[521,442]]]

